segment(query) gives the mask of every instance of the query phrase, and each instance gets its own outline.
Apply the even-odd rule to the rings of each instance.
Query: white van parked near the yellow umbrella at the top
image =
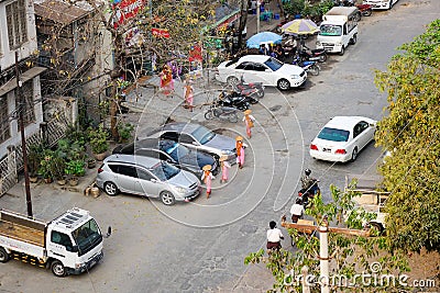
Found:
[[[355,7],[333,7],[324,15],[319,26],[317,48],[343,55],[345,48],[358,41],[360,11]]]

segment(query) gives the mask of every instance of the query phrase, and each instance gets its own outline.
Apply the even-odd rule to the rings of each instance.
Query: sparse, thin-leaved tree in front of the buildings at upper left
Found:
[[[69,1],[75,4],[76,1]],[[118,139],[117,115],[119,102],[122,100],[124,90],[129,86],[138,83],[138,79],[145,74],[146,65],[155,60],[157,67],[163,64],[184,58],[190,48],[204,42],[202,27],[213,23],[212,1],[200,0],[150,0],[150,1],[111,1],[109,7],[105,2],[86,0],[92,8],[94,13],[87,20],[89,31],[85,40],[98,38],[99,31],[110,36],[112,45],[112,68],[106,68],[99,76],[108,76],[109,82],[102,84],[99,91],[110,89],[109,115],[110,127],[113,139]],[[136,7],[138,5],[138,7]],[[163,33],[153,35],[153,29]],[[47,37],[47,49],[54,40],[59,40],[62,30],[53,30]],[[96,45],[99,47],[102,44]],[[94,48],[95,49],[95,48]],[[92,54],[91,54],[92,55]],[[52,52],[53,64],[63,65],[58,52]],[[186,57],[182,57],[186,56]],[[68,70],[55,68],[58,79],[72,79]],[[62,72],[62,74],[59,74]],[[81,79],[87,82],[95,76]],[[61,88],[59,91],[65,90]]]

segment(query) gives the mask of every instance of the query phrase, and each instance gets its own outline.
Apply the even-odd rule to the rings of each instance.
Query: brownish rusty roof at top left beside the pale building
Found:
[[[87,9],[82,9],[58,0],[48,0],[41,3],[34,3],[34,9],[35,15],[64,25],[82,19],[90,13],[90,11]]]

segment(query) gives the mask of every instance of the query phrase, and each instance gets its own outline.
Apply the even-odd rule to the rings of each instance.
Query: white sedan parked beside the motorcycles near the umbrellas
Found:
[[[299,66],[265,55],[246,55],[223,61],[217,69],[216,79],[230,86],[239,83],[243,77],[245,82],[263,82],[263,86],[288,90],[302,86],[307,79],[307,72]]]

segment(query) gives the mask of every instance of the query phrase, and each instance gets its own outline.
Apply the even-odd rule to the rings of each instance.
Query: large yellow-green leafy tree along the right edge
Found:
[[[392,156],[380,167],[392,194],[388,243],[440,251],[440,20],[399,49],[375,82],[388,94],[376,144]]]

